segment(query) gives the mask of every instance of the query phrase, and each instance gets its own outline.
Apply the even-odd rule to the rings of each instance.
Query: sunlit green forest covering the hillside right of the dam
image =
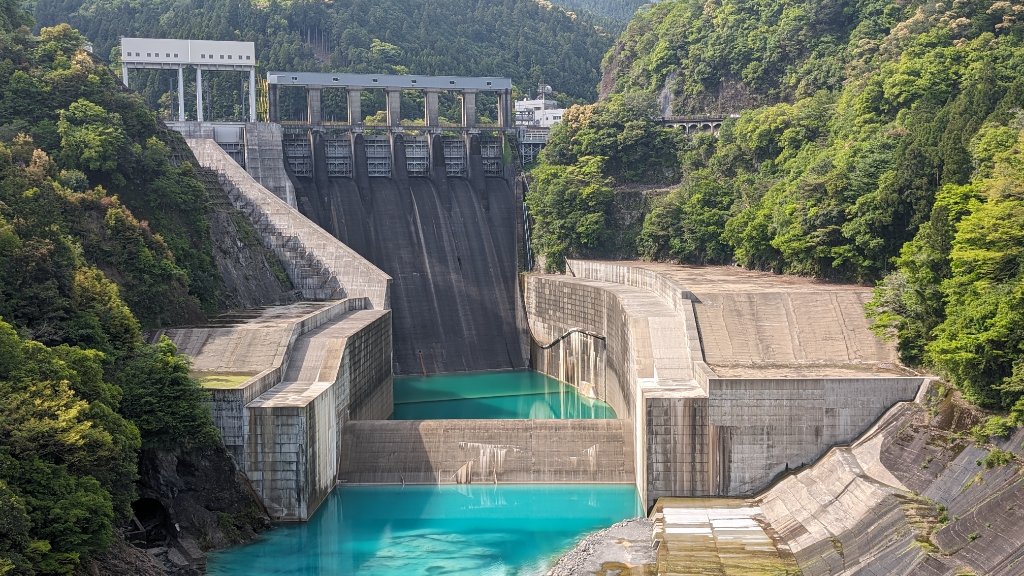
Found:
[[[666,1],[606,64],[535,169],[549,266],[621,245],[616,187],[669,186],[632,255],[879,282],[904,361],[1024,413],[1024,5]],[[687,136],[667,81],[676,113],[746,104]]]

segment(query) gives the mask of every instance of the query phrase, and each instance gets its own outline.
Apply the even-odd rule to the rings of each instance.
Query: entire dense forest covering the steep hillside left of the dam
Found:
[[[72,574],[130,515],[140,450],[219,442],[187,362],[141,337],[219,280],[154,114],[78,32],[31,26],[0,0],[0,574]]]

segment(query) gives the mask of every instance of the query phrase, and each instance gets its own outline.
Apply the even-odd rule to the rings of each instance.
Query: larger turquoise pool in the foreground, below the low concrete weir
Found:
[[[346,486],[308,523],[210,556],[213,576],[535,576],[641,513],[630,485]]]

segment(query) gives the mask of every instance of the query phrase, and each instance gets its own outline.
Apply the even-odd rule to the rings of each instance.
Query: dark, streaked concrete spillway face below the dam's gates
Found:
[[[411,178],[397,154],[392,177],[371,178],[360,148],[358,136],[354,177],[328,177],[316,137],[315,175],[292,179],[303,213],[393,278],[396,373],[525,367],[516,312],[521,199],[510,182],[447,178],[443,162],[433,176]],[[471,147],[471,168],[473,160]]]

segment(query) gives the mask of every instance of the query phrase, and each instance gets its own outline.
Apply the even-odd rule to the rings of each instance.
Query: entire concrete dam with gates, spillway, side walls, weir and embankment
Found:
[[[184,48],[147,64],[132,46],[128,67],[184,66],[169,55]],[[171,126],[301,301],[166,334],[196,376],[223,382],[208,385],[214,421],[274,520],[337,512],[344,485],[618,484],[653,510],[657,574],[1020,574],[1020,537],[1002,530],[1021,513],[1019,474],[978,471],[977,447],[944,461],[937,440],[907,433],[932,411],[928,378],[870,332],[868,289],[731,266],[570,260],[566,275],[528,273],[510,81],[267,81],[270,122],[187,121],[179,99]],[[301,91],[301,117],[282,114],[285,88],[293,112]],[[345,92],[345,121],[325,119],[329,89]],[[386,124],[364,124],[367,90],[383,92]],[[398,120],[411,90],[421,126]],[[458,125],[439,123],[442,90],[460,93]],[[497,120],[478,122],[488,92]],[[527,367],[615,417],[393,419],[395,374]],[[979,507],[990,494],[999,509]],[[955,512],[945,528],[936,502]],[[478,507],[499,504],[487,492]],[[1000,532],[1001,547],[989,543]],[[939,551],[913,544],[929,535]]]

